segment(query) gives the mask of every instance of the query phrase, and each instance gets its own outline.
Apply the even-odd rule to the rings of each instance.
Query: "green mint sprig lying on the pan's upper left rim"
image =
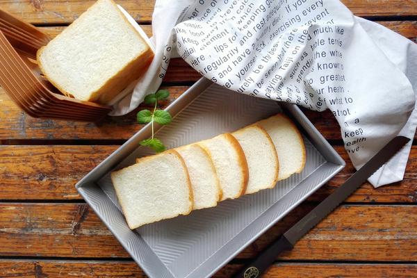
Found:
[[[158,124],[169,124],[172,122],[172,117],[169,112],[157,109],[158,101],[167,99],[169,95],[170,92],[167,90],[158,90],[158,92],[154,94],[147,95],[145,97],[144,103],[147,105],[154,105],[154,111],[151,112],[147,109],[144,109],[139,111],[136,115],[136,119],[140,124],[148,124],[149,122],[152,123],[152,137],[140,141],[139,144],[142,146],[150,147],[154,149],[155,152],[163,152],[165,149],[167,149],[161,140],[154,137],[154,122]]]

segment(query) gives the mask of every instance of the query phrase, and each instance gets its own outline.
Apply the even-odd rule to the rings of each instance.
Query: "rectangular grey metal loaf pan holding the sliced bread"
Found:
[[[279,181],[274,189],[131,231],[109,174],[150,154],[138,144],[151,135],[151,127],[145,126],[79,181],[76,188],[149,277],[210,277],[345,165],[293,104],[240,95],[203,78],[167,110],[174,120],[156,129],[157,137],[168,148],[234,131],[282,111],[302,132],[306,166],[300,174]]]

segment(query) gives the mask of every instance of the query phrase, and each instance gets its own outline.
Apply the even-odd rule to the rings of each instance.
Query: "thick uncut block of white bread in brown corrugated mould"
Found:
[[[112,0],[99,0],[38,50],[40,70],[64,95],[108,104],[154,52]]]

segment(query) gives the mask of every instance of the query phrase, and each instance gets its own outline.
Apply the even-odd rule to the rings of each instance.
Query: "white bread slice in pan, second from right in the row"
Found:
[[[252,125],[231,133],[242,146],[249,167],[249,182],[245,194],[273,188],[278,180],[277,151],[268,133]]]

